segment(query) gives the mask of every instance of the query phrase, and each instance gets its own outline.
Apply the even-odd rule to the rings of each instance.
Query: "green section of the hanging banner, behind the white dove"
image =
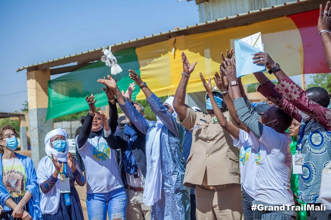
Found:
[[[126,90],[131,82],[128,70],[135,70],[140,75],[138,57],[135,48],[129,48],[114,53],[123,72],[113,76],[118,80],[120,90]],[[102,53],[100,52],[100,57]],[[108,105],[104,87],[98,83],[99,78],[111,74],[111,68],[105,66],[101,60],[84,68],[73,71],[56,79],[48,81],[48,109],[46,120],[63,115],[88,110],[86,96],[93,94],[97,99],[96,107]],[[132,100],[139,93],[139,86],[135,86]]]

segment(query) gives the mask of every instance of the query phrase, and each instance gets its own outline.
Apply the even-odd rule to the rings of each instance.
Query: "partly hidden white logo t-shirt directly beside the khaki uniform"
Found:
[[[257,164],[261,160],[259,150],[252,147],[249,133],[239,130],[239,140],[233,139],[233,145],[240,149],[239,169],[240,181],[245,192],[255,199],[255,178]]]

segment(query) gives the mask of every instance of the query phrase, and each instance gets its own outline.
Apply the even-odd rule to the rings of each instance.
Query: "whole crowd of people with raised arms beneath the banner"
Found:
[[[318,31],[331,68],[331,7],[320,6]],[[46,156],[35,171],[16,153],[17,132],[0,129],[0,219],[84,219],[75,182],[87,187],[90,220],[101,219],[331,219],[331,210],[256,210],[262,207],[321,205],[322,170],[331,160],[330,99],[321,87],[302,90],[267,53],[252,62],[278,80],[254,73],[268,104],[253,107],[237,78],[234,51],[222,53],[205,87],[207,112],[185,104],[186,87],[197,62],[182,52],[183,71],[174,97],[162,103],[133,70],[121,92],[110,77],[99,79],[109,116],[96,111],[93,94],[69,152],[59,128],[44,139]],[[131,101],[139,86],[156,115]],[[125,117],[118,117],[117,105]],[[296,159],[303,157],[302,164]],[[295,159],[295,160],[294,160]],[[293,162],[294,160],[294,162]],[[185,163],[186,162],[186,163]],[[299,166],[302,173],[292,172]]]

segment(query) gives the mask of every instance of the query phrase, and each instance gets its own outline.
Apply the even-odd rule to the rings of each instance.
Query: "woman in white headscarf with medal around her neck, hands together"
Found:
[[[84,219],[75,181],[86,183],[77,159],[69,151],[67,132],[54,129],[45,137],[46,156],[37,168],[37,182],[40,185],[40,208],[44,220]]]

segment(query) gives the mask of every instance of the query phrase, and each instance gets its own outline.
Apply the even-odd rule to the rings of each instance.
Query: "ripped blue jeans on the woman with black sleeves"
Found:
[[[125,188],[121,187],[108,193],[88,194],[86,206],[90,220],[126,219],[127,197]]]

